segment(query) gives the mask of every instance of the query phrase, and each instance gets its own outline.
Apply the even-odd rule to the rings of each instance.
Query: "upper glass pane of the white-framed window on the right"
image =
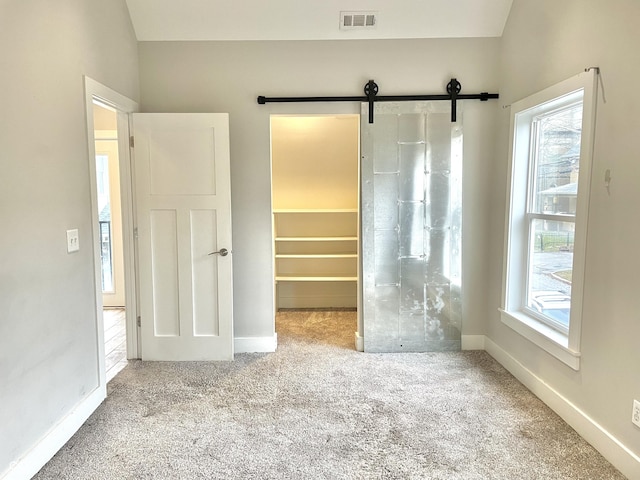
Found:
[[[534,191],[536,213],[576,213],[582,103],[535,120]]]

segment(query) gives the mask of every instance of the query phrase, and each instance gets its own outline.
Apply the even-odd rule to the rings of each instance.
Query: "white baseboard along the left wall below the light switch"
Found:
[[[96,388],[28,452],[11,462],[9,469],[3,472],[0,478],[2,480],[28,480],[33,477],[69,441],[106,396],[105,386]]]

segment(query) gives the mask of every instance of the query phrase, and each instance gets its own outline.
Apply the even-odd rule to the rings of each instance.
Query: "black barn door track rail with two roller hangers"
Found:
[[[369,80],[364,86],[364,96],[345,97],[258,97],[258,103],[296,103],[296,102],[367,102],[369,103],[369,123],[373,123],[373,104],[375,102],[403,102],[408,100],[448,100],[451,102],[451,121],[456,121],[456,102],[458,100],[480,100],[486,102],[499,98],[497,93],[460,93],[462,84],[452,78],[447,84],[447,93],[440,95],[378,95],[378,84]]]

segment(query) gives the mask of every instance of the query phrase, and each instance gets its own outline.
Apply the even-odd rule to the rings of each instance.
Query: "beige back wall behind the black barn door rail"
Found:
[[[142,111],[229,112],[235,336],[273,335],[269,115],[359,113],[355,103],[267,104],[256,97],[496,91],[499,39],[141,42]],[[465,334],[484,333],[488,200],[497,102],[465,105]]]

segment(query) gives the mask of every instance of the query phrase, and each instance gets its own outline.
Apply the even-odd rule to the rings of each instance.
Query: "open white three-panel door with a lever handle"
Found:
[[[133,132],[142,359],[231,360],[228,115],[134,114]]]

